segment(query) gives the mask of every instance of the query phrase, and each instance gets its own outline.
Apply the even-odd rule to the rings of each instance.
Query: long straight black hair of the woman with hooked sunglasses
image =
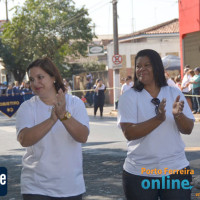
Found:
[[[158,87],[167,86],[167,81],[165,78],[165,70],[160,55],[152,49],[143,49],[139,51],[135,57],[135,73],[134,73],[133,88],[139,92],[142,91],[144,88],[144,84],[141,83],[136,76],[136,61],[139,57],[144,57],[144,56],[147,56],[151,62],[151,65],[153,67],[153,76],[156,85]]]

